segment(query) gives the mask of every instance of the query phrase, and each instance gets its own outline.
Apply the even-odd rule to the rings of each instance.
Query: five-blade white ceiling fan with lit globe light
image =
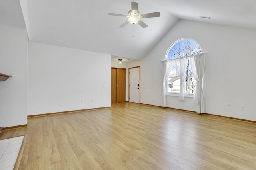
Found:
[[[142,28],[146,28],[148,25],[146,25],[146,23],[144,23],[140,19],[142,19],[142,18],[151,18],[151,17],[159,17],[160,16],[160,12],[152,12],[152,13],[148,13],[148,14],[140,14],[140,12],[138,11],[138,6],[139,6],[138,3],[132,2],[132,10],[128,11],[128,15],[115,14],[115,13],[108,13],[108,15],[121,16],[121,17],[128,18],[128,20],[125,23],[123,23],[119,28],[124,27],[128,23],[131,23],[133,25],[138,23]]]

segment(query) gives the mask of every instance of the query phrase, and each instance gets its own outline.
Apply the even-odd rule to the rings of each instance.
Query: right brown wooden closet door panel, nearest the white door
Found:
[[[116,70],[116,102],[125,102],[125,69]]]

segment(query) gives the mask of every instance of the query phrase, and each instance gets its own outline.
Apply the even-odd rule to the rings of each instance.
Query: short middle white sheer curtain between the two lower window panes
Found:
[[[179,100],[184,100],[184,93],[186,88],[186,66],[188,64],[188,58],[182,58],[179,60],[176,60],[176,70],[180,77],[180,94],[179,94]]]

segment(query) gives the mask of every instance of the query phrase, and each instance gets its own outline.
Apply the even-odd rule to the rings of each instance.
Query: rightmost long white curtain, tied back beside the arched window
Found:
[[[201,53],[194,55],[192,59],[190,59],[191,71],[192,75],[196,80],[196,90],[194,93],[194,102],[198,104],[196,108],[197,113],[204,113],[204,94],[203,94],[203,86],[202,79],[204,77],[204,67],[206,64],[206,56],[207,53]]]

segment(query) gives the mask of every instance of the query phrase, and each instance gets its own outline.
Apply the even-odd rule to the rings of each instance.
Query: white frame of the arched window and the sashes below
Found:
[[[182,39],[178,39],[177,41],[175,41],[174,43],[172,43],[172,45],[170,45],[170,47],[168,48],[168,50],[166,51],[166,55],[165,55],[165,59],[168,60],[168,55],[170,53],[170,50],[177,44],[179,43],[180,41],[184,41],[184,40],[190,40],[190,41],[193,41],[194,43],[196,43],[199,47],[200,47],[200,51],[199,53],[202,53],[202,48],[200,46],[200,44],[195,41],[194,39],[191,39],[191,38],[182,38]],[[196,53],[196,54],[199,54],[199,53]],[[194,54],[191,54],[191,55],[194,55]],[[180,58],[183,58],[183,57],[188,57],[188,56],[191,56],[191,55],[185,55],[185,56],[182,56]],[[177,60],[179,59],[178,57],[177,58],[173,58],[174,60]],[[188,60],[188,67],[190,66],[189,64],[189,60]],[[174,64],[174,67],[175,67],[175,64]],[[191,69],[191,68],[189,68]],[[171,70],[170,74],[172,73],[172,71],[174,71],[174,68]],[[191,71],[191,70],[190,70]],[[176,70],[175,70],[176,72]],[[167,91],[167,95],[170,95],[170,96],[179,96],[179,90],[180,90],[180,82],[179,82],[179,76],[176,74],[175,76],[173,76],[174,74],[172,74],[172,76],[169,76],[168,78],[168,86],[166,87],[166,91]],[[173,79],[173,80],[170,80],[170,79]],[[178,80],[178,81],[177,81]],[[191,81],[190,81],[191,80]],[[170,82],[170,83],[169,83]],[[191,83],[189,83],[191,82]],[[175,83],[175,84],[174,84]],[[192,84],[192,85],[190,85]],[[192,76],[192,74],[190,76],[186,75],[186,90],[185,90],[185,96],[187,97],[193,97],[194,96],[194,90],[189,90],[190,93],[188,93],[188,87],[195,87],[196,85],[196,81],[194,80],[194,77]],[[176,88],[174,88],[174,86]],[[174,89],[174,90],[172,90]]]

